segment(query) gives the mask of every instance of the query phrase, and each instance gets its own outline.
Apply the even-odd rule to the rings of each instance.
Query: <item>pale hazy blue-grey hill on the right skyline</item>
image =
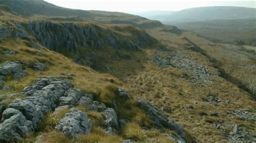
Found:
[[[139,16],[160,20],[164,24],[172,22],[201,22],[210,20],[247,19],[256,18],[256,9],[235,6],[207,6],[185,9],[177,12],[157,12],[157,17],[152,17],[152,12],[144,12]]]

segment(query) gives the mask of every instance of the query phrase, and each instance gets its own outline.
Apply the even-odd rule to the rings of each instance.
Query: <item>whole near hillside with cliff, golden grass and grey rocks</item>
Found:
[[[255,47],[1,12],[1,142],[256,141]]]

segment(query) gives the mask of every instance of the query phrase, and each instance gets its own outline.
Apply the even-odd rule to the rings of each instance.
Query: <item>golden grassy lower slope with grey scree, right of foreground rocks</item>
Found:
[[[158,29],[147,32],[162,41],[165,46],[144,49],[143,58],[139,60],[142,63],[137,63],[140,66],[137,69],[130,71],[119,65],[119,69],[131,72],[130,74],[115,73],[115,67],[110,65],[112,74],[121,77],[137,98],[156,104],[202,142],[240,138],[254,138],[255,141],[256,106],[253,97],[220,77],[219,69],[214,68],[215,63],[210,60],[221,60],[221,63],[225,64],[223,67],[226,72],[229,72],[228,68],[236,68],[233,69],[232,75],[241,80],[246,77],[241,74],[245,71],[255,79],[253,67],[256,63],[250,60],[251,55],[240,52],[239,47],[226,49],[225,46],[228,45],[214,44],[190,32],[181,35],[160,32]],[[193,51],[193,44],[205,49],[212,57]],[[231,57],[228,57],[228,54]],[[239,56],[244,56],[244,60]],[[229,67],[231,62],[252,66],[249,69]],[[239,128],[239,131],[235,128]]]

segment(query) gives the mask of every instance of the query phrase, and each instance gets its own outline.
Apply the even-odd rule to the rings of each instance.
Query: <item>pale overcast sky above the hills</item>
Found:
[[[177,11],[201,6],[243,6],[256,8],[255,1],[173,1],[173,0],[45,0],[64,8],[104,11]]]

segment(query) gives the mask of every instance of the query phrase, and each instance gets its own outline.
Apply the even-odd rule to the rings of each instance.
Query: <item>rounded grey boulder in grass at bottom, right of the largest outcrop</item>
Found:
[[[90,119],[87,118],[86,113],[72,108],[69,113],[59,121],[55,128],[69,137],[76,138],[78,134],[89,133],[92,128],[92,123]]]

